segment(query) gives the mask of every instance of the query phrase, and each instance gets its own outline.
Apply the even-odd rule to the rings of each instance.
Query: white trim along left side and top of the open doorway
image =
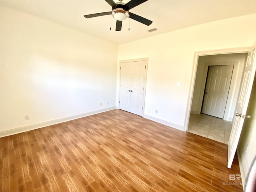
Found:
[[[194,61],[192,66],[192,76],[190,81],[190,90],[188,96],[188,105],[186,109],[186,116],[185,116],[185,124],[184,130],[188,130],[188,122],[190,117],[191,105],[192,105],[192,98],[194,93],[194,85],[196,80],[196,69],[198,65],[198,58],[199,56],[203,55],[215,55],[215,54],[228,54],[228,53],[247,53],[250,51],[251,47],[241,47],[241,48],[229,48],[229,49],[220,49],[220,50],[208,50],[208,51],[201,51],[194,53]]]

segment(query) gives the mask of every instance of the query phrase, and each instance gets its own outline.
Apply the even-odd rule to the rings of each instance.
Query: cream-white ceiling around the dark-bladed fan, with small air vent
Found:
[[[118,2],[118,0],[114,0]],[[123,0],[124,3],[129,0]],[[153,23],[150,26],[130,19],[122,31],[115,31],[116,20],[110,15],[84,18],[85,14],[111,11],[105,0],[0,0],[0,5],[20,10],[115,44],[154,36],[198,24],[256,13],[256,0],[148,0],[130,12]],[[157,28],[157,31],[147,30]]]

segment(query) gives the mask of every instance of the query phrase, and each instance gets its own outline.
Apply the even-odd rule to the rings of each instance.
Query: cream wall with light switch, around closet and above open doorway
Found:
[[[252,46],[255,22],[256,14],[252,14],[118,46],[118,60],[148,57],[145,115],[185,130],[195,52]],[[176,86],[178,81],[181,87]]]

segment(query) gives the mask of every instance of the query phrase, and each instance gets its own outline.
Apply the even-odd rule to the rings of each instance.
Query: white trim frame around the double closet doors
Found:
[[[147,75],[148,75],[148,58],[140,58],[140,59],[131,59],[131,60],[120,60],[119,61],[119,80],[118,80],[118,100],[117,100],[117,108],[120,109],[120,84],[121,84],[121,63],[124,62],[135,62],[135,61],[146,61],[146,69],[145,69],[145,77],[144,77],[144,92],[143,92],[143,110],[142,110],[142,117],[144,116],[145,112],[145,99],[146,99],[146,85],[147,85]]]

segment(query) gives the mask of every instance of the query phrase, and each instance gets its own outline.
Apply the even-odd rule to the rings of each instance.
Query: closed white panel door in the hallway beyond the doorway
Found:
[[[202,113],[224,117],[234,65],[209,66]]]

